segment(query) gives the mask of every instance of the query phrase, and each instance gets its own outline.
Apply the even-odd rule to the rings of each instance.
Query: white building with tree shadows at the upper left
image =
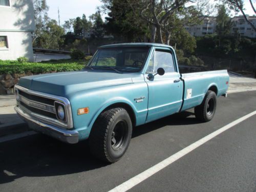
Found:
[[[33,61],[34,30],[32,0],[0,0],[0,59],[27,57]]]

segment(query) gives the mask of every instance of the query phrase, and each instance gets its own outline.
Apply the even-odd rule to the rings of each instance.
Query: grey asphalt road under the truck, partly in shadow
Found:
[[[193,111],[136,127],[114,164],[94,159],[87,142],[68,145],[44,135],[0,143],[0,191],[108,191],[256,110],[256,92],[219,98],[215,118]],[[196,148],[130,191],[256,191],[256,115]]]

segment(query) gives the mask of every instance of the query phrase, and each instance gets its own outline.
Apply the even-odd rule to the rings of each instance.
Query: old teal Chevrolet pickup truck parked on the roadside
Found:
[[[191,108],[211,120],[228,84],[226,70],[180,74],[170,46],[116,44],[100,47],[81,71],[20,78],[15,110],[35,131],[68,143],[89,139],[92,153],[113,163],[138,125]]]

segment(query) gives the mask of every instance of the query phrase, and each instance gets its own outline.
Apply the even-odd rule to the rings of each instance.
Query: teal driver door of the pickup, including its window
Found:
[[[155,75],[163,68],[164,75]],[[145,81],[148,86],[148,113],[146,122],[150,122],[178,112],[182,104],[182,81],[175,69],[174,56],[169,49],[155,49],[148,63]]]

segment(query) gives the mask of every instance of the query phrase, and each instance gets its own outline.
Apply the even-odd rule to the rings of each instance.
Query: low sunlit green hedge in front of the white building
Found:
[[[88,60],[51,60],[42,62],[23,62],[13,60],[0,60],[0,74],[23,74],[31,72],[50,73],[50,72],[63,72],[63,71],[79,71]]]

